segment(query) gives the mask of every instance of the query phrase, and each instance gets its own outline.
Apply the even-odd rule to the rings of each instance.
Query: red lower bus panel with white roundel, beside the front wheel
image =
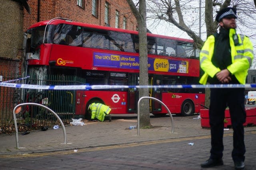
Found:
[[[86,103],[98,98],[105,105],[110,106],[111,114],[127,114],[127,92],[114,91],[86,91]]]

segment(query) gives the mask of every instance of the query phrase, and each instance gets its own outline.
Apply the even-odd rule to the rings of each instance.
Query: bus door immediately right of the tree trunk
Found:
[[[162,76],[161,75],[151,75],[149,76],[150,85],[161,85],[162,84]],[[162,101],[162,89],[161,88],[150,88],[149,96],[156,98]],[[157,101],[150,100],[150,111],[162,111],[161,104]]]

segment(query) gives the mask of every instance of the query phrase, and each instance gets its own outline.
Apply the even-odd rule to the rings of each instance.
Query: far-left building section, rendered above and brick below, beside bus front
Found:
[[[0,0],[0,81],[20,77],[24,69],[23,6],[29,12],[26,0]],[[0,86],[0,129],[4,120],[11,120],[12,110],[18,103],[18,89]],[[0,131],[1,133],[1,131]]]

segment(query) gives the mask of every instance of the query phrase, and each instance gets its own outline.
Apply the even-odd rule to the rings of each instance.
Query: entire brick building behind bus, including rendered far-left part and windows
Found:
[[[24,32],[38,21],[61,17],[130,30],[137,25],[126,0],[0,0],[0,4],[0,81],[25,76]],[[20,94],[20,89],[0,86],[0,122],[12,119]]]

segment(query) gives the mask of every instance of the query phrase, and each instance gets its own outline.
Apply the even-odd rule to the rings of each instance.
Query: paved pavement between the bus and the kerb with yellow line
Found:
[[[67,144],[64,144],[62,127],[49,128],[47,131],[31,131],[27,135],[19,133],[19,149],[16,148],[15,134],[0,135],[0,156],[210,135],[210,129],[201,127],[198,115],[173,116],[173,120],[174,133],[171,133],[172,125],[168,115],[166,117],[151,116],[150,122],[155,128],[140,129],[139,136],[137,136],[137,129],[128,129],[130,125],[137,124],[136,117],[112,116],[111,122],[85,120],[84,126],[65,126]],[[256,131],[256,127],[245,127],[245,131]],[[232,129],[225,130],[224,133],[232,133]],[[210,146],[207,149],[210,149]]]

